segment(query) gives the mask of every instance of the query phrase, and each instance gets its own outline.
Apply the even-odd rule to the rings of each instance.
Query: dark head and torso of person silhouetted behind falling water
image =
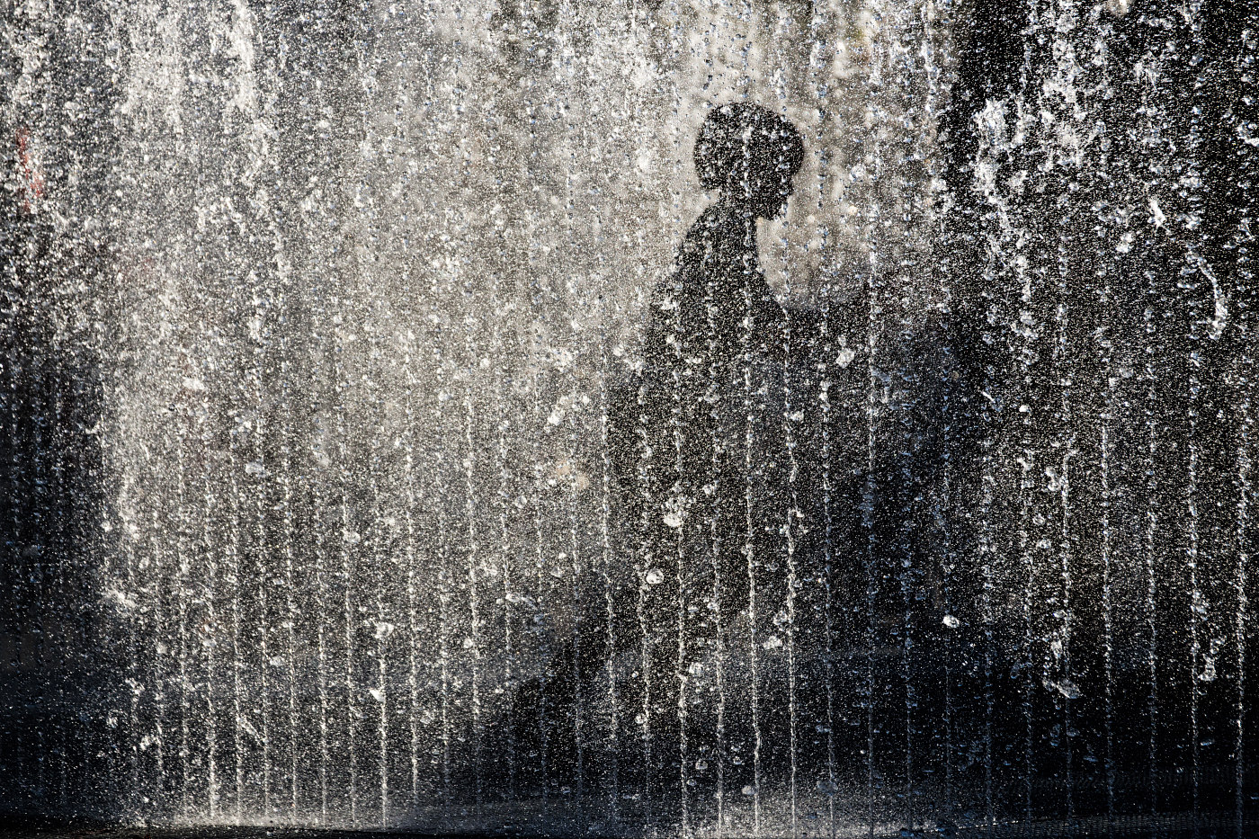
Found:
[[[803,157],[799,132],[778,115],[747,103],[710,111],[695,170],[718,198],[656,288],[637,391],[613,406],[613,465],[643,538],[651,600],[715,590],[726,621],[757,583],[753,567],[772,558],[787,514],[783,384],[813,324],[774,297],[757,220],[786,209]]]

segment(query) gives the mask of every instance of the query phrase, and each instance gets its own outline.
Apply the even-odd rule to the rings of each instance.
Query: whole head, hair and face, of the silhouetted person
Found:
[[[719,189],[724,199],[763,218],[787,207],[803,163],[796,126],[759,105],[714,107],[695,140],[695,171],[704,189]]]

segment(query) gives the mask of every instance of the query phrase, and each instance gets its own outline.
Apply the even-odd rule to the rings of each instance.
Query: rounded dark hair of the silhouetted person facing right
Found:
[[[805,141],[791,122],[759,105],[730,102],[709,111],[695,140],[695,173],[704,189],[765,180],[779,168],[788,176],[805,163]]]

